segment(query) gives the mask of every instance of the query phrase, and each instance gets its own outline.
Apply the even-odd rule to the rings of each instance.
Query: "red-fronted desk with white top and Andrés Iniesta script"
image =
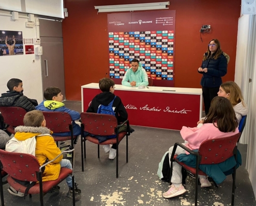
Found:
[[[82,111],[99,93],[98,83],[81,87]],[[180,130],[182,126],[196,127],[202,117],[202,89],[171,87],[126,87],[115,84],[127,110],[131,125]]]

